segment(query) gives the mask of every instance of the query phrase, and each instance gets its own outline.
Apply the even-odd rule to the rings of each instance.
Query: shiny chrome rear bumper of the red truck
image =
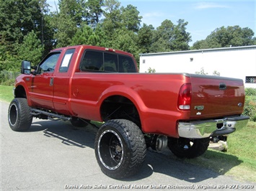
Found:
[[[248,121],[248,116],[234,116],[215,120],[179,122],[178,133],[180,137],[190,139],[226,135],[242,129]],[[217,126],[221,126],[221,128],[217,128]]]

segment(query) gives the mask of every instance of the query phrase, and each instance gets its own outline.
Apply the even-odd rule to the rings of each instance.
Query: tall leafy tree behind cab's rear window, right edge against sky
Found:
[[[128,5],[120,8],[119,1],[105,1],[105,19],[100,28],[105,34],[103,39],[107,41],[108,47],[138,54],[139,49],[136,42],[138,38],[135,32],[138,32],[142,18],[138,14],[139,11],[135,6]],[[130,45],[128,45],[128,39],[131,39]]]

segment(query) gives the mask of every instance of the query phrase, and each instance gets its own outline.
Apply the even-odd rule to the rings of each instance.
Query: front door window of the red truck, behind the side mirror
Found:
[[[37,74],[53,73],[61,52],[53,52],[39,65]]]

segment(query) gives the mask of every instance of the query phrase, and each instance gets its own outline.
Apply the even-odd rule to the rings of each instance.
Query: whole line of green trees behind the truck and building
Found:
[[[57,8],[58,7],[58,8]],[[118,0],[0,0],[0,70],[19,70],[21,60],[36,65],[56,47],[97,45],[140,53],[256,45],[250,28],[220,27],[190,47],[184,19],[159,27],[141,23],[136,6]]]

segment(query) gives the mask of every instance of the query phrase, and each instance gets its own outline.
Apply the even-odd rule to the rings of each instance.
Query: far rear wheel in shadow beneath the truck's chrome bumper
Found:
[[[180,158],[192,159],[199,157],[206,152],[209,146],[210,139],[186,139],[180,137],[179,139],[169,137],[169,149]]]

